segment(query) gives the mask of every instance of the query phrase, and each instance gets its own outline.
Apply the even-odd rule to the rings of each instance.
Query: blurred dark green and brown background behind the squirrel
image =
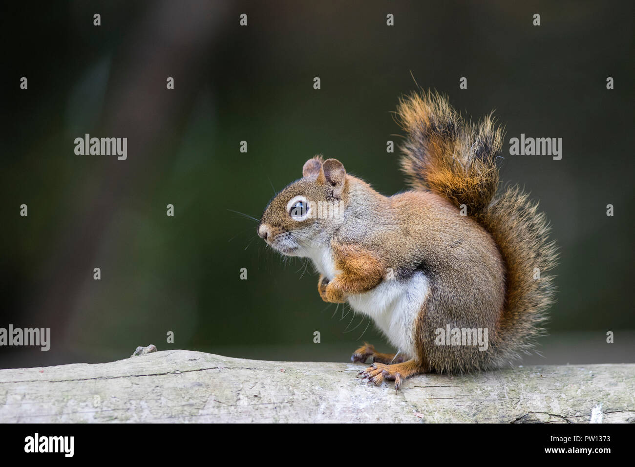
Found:
[[[633,13],[599,1],[11,7],[0,327],[50,327],[52,343],[0,348],[0,367],[106,362],[150,343],[280,360],[346,360],[361,340],[388,349],[368,319],[342,306],[333,316],[311,266],[303,275],[302,261],[267,250],[256,223],[228,209],[258,217],[272,186],[317,153],[382,193],[404,189],[385,145],[399,144],[391,111],[413,78],[474,119],[496,110],[502,179],[551,219],[558,303],[545,358],[527,362],[632,362]],[[127,137],[128,160],[76,156],[84,133]],[[563,138],[563,159],[509,156],[520,133]]]

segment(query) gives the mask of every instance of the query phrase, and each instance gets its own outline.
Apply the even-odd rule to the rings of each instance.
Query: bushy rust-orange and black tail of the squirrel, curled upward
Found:
[[[507,297],[498,333],[500,360],[533,346],[542,334],[554,286],[547,271],[557,248],[538,205],[518,186],[499,193],[497,154],[502,131],[491,116],[464,121],[438,93],[413,94],[399,102],[397,118],[408,133],[401,166],[413,187],[429,189],[467,213],[490,232],[507,266]]]

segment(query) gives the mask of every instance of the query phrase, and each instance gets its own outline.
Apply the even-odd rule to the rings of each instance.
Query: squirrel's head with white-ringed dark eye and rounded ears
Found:
[[[258,236],[278,252],[306,256],[328,241],[344,215],[348,200],[344,165],[337,159],[309,159],[302,178],[269,202]]]

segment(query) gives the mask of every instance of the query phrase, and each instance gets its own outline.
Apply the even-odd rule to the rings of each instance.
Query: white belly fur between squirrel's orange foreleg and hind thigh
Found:
[[[416,356],[415,321],[425,302],[429,283],[417,272],[406,280],[384,280],[369,292],[348,297],[352,309],[370,316],[401,353]]]

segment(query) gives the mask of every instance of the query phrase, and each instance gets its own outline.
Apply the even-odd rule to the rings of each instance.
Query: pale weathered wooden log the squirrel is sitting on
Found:
[[[634,364],[422,375],[398,393],[363,368],[174,350],[0,370],[0,423],[635,421]]]

